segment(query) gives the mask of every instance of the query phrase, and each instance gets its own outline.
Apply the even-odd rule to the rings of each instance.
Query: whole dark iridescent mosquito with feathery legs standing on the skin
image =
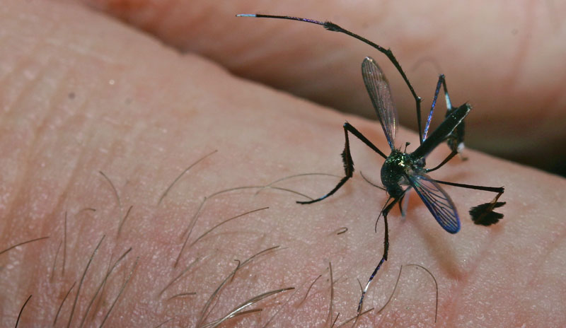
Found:
[[[255,18],[279,18],[291,21],[302,21],[306,23],[313,23],[317,25],[322,25],[326,30],[333,32],[344,33],[350,35],[351,37],[361,40],[362,42],[374,47],[379,52],[385,54],[389,61],[395,66],[395,69],[399,72],[403,81],[407,84],[413,98],[415,98],[416,109],[417,109],[417,124],[419,131],[420,145],[412,153],[407,153],[408,143],[405,144],[405,150],[401,151],[400,148],[395,147],[395,131],[398,127],[398,115],[395,105],[393,105],[393,99],[391,98],[391,88],[387,81],[386,76],[383,71],[379,68],[379,65],[371,57],[366,57],[362,61],[362,78],[364,79],[364,84],[366,86],[367,92],[369,93],[369,98],[374,106],[379,122],[381,122],[381,127],[383,128],[383,133],[386,136],[389,147],[391,148],[391,153],[386,156],[379,148],[369,141],[362,133],[360,133],[356,128],[354,128],[350,123],[345,122],[343,125],[345,144],[344,151],[342,151],[342,162],[344,163],[345,176],[342,177],[340,182],[330,190],[324,196],[313,199],[311,201],[297,201],[299,204],[312,204],[317,201],[321,201],[335,192],[337,192],[342,185],[344,185],[347,180],[349,180],[354,172],[354,162],[352,160],[352,155],[350,153],[350,141],[348,139],[348,133],[353,134],[359,140],[361,140],[366,146],[371,148],[373,151],[378,153],[381,157],[385,159],[385,163],[381,166],[381,183],[384,189],[389,195],[386,204],[383,205],[381,209],[378,220],[383,216],[384,224],[384,237],[383,237],[383,255],[381,260],[377,264],[374,271],[369,276],[366,286],[362,290],[362,297],[359,300],[357,311],[362,310],[362,304],[364,301],[364,296],[369,288],[371,281],[377,274],[377,271],[381,268],[383,262],[387,260],[388,249],[389,249],[389,235],[388,235],[388,225],[387,225],[387,215],[395,204],[401,204],[403,198],[407,195],[410,189],[415,189],[415,192],[419,195],[420,199],[437,222],[440,224],[444,230],[449,233],[457,233],[460,228],[460,217],[458,216],[458,211],[456,211],[456,206],[454,201],[450,198],[440,185],[450,185],[454,187],[462,187],[467,189],[482,190],[485,192],[494,192],[497,195],[484,204],[474,206],[470,209],[470,216],[475,224],[478,225],[492,225],[497,223],[501,218],[503,218],[502,213],[497,213],[494,210],[505,204],[504,201],[498,201],[499,197],[504,192],[504,187],[486,187],[478,185],[466,185],[455,182],[446,182],[441,180],[435,180],[429,177],[428,173],[434,170],[438,170],[444,164],[448,163],[451,158],[454,158],[456,154],[463,148],[463,120],[468,116],[470,110],[472,110],[471,105],[464,103],[461,106],[453,107],[452,102],[449,97],[448,89],[446,88],[446,79],[443,74],[439,76],[437,87],[434,90],[434,98],[432,105],[427,117],[427,122],[424,125],[424,131],[422,130],[421,123],[421,109],[420,103],[422,98],[417,96],[414,88],[391,49],[385,49],[374,42],[367,40],[366,38],[359,36],[341,28],[335,23],[329,21],[321,22],[314,21],[308,18],[298,18],[292,16],[275,16],[275,15],[262,15],[262,14],[240,14],[238,17],[255,17]],[[441,122],[437,129],[434,129],[432,133],[427,136],[430,122],[432,119],[432,113],[434,112],[434,107],[437,103],[437,98],[440,92],[440,88],[444,90],[444,96],[446,99],[446,117],[444,121]],[[451,153],[437,166],[434,168],[426,168],[426,158],[439,144],[447,142]],[[400,206],[401,207],[401,206]],[[401,213],[404,213],[403,208],[401,208]]]

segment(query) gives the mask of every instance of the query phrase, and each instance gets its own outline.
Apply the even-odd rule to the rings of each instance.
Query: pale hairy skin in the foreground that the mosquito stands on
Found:
[[[5,2],[0,12],[0,251],[25,240],[50,238],[0,254],[2,327],[15,324],[29,295],[33,297],[21,327],[52,324],[75,282],[57,327],[67,327],[71,312],[71,327],[79,326],[83,317],[89,326],[98,326],[137,257],[137,267],[105,324],[155,327],[172,319],[163,327],[194,327],[211,293],[236,268],[235,259],[243,262],[277,245],[286,248],[238,270],[206,322],[261,293],[294,287],[248,307],[263,310],[230,324],[261,327],[280,310],[272,327],[328,327],[333,321],[328,262],[335,279],[332,317],[340,313],[340,324],[355,315],[357,279],[366,281],[382,252],[383,223],[374,233],[374,222],[386,195],[359,176],[362,171],[379,182],[383,159],[353,137],[357,173],[335,196],[310,206],[294,204],[303,198],[274,189],[210,199],[189,243],[227,218],[270,209],[217,228],[185,248],[177,267],[173,264],[183,245],[181,235],[204,197],[299,173],[341,175],[337,154],[345,119],[386,151],[379,125],[235,78],[219,64],[180,55],[81,6]],[[452,96],[458,104],[467,100],[458,93]],[[398,146],[417,142],[405,130],[397,140]],[[157,205],[180,172],[214,150],[218,152],[195,165]],[[439,147],[428,163],[439,163],[447,153],[446,146]],[[450,235],[413,195],[407,218],[401,219],[397,209],[390,214],[390,258],[371,286],[365,308],[381,307],[399,266],[417,263],[439,283],[440,327],[563,326],[565,180],[474,151],[466,155],[468,161],[456,158],[434,177],[504,185],[505,218],[491,228],[473,225],[468,208],[489,201],[492,194],[446,187],[463,224],[461,232]],[[99,171],[115,185],[120,204]],[[336,181],[296,177],[277,186],[317,197]],[[347,232],[337,235],[342,227]],[[83,271],[103,235],[77,298]],[[132,251],[111,272],[102,298],[85,315],[109,266],[129,247]],[[197,258],[200,262],[160,295]],[[381,314],[370,312],[360,326],[432,327],[432,279],[407,267],[399,288]],[[196,294],[169,300],[192,292]]]

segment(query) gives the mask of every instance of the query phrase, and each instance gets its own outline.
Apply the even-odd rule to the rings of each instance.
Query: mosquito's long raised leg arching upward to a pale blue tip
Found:
[[[403,71],[403,69],[401,68],[399,61],[397,61],[395,56],[393,56],[393,52],[391,52],[391,49],[386,49],[384,47],[381,47],[380,45],[378,45],[374,42],[371,42],[370,40],[367,40],[365,37],[362,37],[360,35],[352,33],[349,30],[346,30],[345,28],[342,28],[339,25],[336,25],[335,23],[332,23],[332,22],[329,22],[329,21],[320,22],[320,21],[315,21],[313,19],[308,19],[308,18],[300,18],[300,17],[293,17],[293,16],[279,16],[279,15],[262,15],[260,13],[257,13],[257,14],[240,13],[240,14],[236,15],[236,17],[278,18],[278,19],[287,19],[289,21],[301,21],[301,22],[305,22],[305,23],[312,23],[312,24],[316,24],[316,25],[321,25],[325,29],[330,30],[332,32],[338,32],[338,33],[344,33],[345,35],[350,35],[351,37],[354,37],[357,40],[364,42],[366,45],[370,45],[371,47],[374,47],[374,49],[377,49],[382,54],[385,54],[387,56],[387,58],[389,59],[389,61],[391,61],[393,66],[395,66],[395,69],[397,69],[399,74],[401,74],[401,77],[403,77],[403,81],[405,81],[405,84],[407,84],[407,86],[409,87],[409,90],[412,94],[412,98],[415,98],[415,104],[416,104],[416,107],[417,107],[417,122],[418,122],[418,125],[419,125],[419,140],[422,143],[422,127],[421,127],[422,124],[421,124],[421,113],[420,113],[420,102],[422,101],[422,98],[420,98],[417,95],[417,93],[415,93],[415,89],[412,88],[412,84],[409,82],[409,79],[407,78],[405,71]]]

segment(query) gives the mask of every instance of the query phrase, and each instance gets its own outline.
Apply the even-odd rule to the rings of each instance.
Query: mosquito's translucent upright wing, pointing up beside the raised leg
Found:
[[[377,117],[383,127],[383,132],[391,149],[395,148],[395,129],[397,127],[397,110],[393,105],[389,83],[383,71],[377,66],[376,61],[371,57],[366,57],[362,61],[362,77],[366,85],[367,93],[374,104]]]

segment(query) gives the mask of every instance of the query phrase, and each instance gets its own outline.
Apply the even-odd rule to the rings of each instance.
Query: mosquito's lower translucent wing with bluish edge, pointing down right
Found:
[[[449,233],[457,233],[460,230],[460,218],[456,206],[437,182],[422,173],[411,175],[409,183],[444,230]]]

